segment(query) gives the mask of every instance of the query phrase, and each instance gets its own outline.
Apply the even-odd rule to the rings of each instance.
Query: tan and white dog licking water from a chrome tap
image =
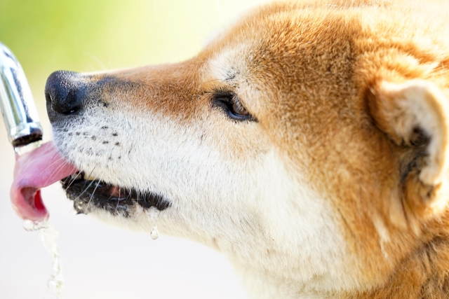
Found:
[[[62,179],[79,213],[225,253],[255,298],[448,298],[448,11],[267,4],[185,62],[57,71],[13,204],[45,218]]]

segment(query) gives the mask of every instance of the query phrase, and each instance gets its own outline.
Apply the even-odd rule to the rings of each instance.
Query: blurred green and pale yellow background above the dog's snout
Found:
[[[185,60],[253,2],[0,0],[0,41],[18,57],[45,118],[43,87],[53,71]]]

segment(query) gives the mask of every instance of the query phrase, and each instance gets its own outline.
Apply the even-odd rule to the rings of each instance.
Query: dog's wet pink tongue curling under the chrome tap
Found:
[[[48,218],[40,188],[74,174],[78,169],[62,157],[53,141],[15,159],[11,203],[24,219],[42,221]]]

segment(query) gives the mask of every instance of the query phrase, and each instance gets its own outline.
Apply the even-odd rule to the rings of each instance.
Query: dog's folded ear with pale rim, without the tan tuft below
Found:
[[[370,91],[375,99],[368,105],[377,127],[398,146],[410,148],[417,155],[413,160],[424,157],[416,165],[422,183],[441,183],[449,166],[448,91],[420,80],[383,81]]]

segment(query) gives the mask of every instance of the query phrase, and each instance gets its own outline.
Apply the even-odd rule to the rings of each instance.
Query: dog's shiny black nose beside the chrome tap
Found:
[[[81,109],[83,97],[80,95],[79,74],[73,71],[55,71],[45,85],[47,112],[72,114]]]

